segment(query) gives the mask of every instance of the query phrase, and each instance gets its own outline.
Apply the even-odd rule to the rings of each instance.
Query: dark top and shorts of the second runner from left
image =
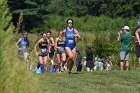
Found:
[[[42,41],[39,43],[40,54],[39,56],[45,57],[48,54],[48,42]]]

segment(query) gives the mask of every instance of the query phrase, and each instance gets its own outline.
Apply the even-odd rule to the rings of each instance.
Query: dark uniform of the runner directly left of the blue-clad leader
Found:
[[[65,41],[64,40],[58,39],[57,46],[58,46],[57,53],[61,54],[61,53],[65,52]]]

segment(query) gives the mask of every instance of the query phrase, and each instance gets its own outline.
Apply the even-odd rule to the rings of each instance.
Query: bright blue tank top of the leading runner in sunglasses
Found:
[[[66,28],[66,46],[69,48],[75,48],[76,47],[76,41],[75,41],[75,31],[74,28],[72,28],[72,31],[69,31],[68,28]]]

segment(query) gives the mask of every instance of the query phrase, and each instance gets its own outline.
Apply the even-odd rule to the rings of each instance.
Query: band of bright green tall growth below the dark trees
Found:
[[[130,31],[133,31],[136,22],[140,20],[137,18],[109,18],[107,16],[83,16],[83,17],[64,17],[64,16],[54,16],[46,15],[43,17],[44,25],[40,28],[34,28],[31,32],[40,32],[47,29],[55,29],[57,31],[65,29],[66,20],[72,18],[74,20],[74,27],[80,32],[100,32],[100,31],[113,31],[116,32],[120,30],[124,25],[130,26]]]

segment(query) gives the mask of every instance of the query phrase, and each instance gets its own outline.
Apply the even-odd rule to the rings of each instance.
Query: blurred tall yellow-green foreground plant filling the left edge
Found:
[[[0,93],[42,93],[38,78],[17,59],[7,0],[0,0]]]

